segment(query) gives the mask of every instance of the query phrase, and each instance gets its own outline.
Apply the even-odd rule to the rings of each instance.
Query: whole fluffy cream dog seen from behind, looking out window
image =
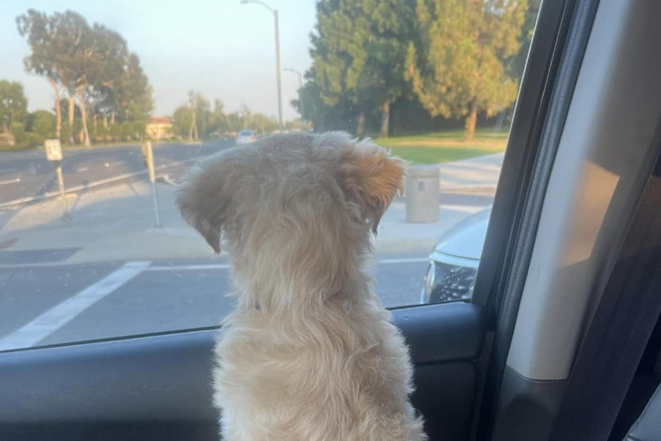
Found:
[[[238,305],[215,346],[223,440],[426,439],[407,346],[363,270],[404,166],[347,134],[280,135],[179,186],[183,217],[231,253]]]

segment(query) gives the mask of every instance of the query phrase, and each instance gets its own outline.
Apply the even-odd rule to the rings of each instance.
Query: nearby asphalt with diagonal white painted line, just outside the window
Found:
[[[0,350],[218,326],[233,307],[227,262],[138,265],[0,268]],[[426,267],[424,255],[380,258],[384,305],[417,303]]]

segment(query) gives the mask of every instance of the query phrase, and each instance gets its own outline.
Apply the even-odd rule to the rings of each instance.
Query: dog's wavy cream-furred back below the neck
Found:
[[[215,348],[224,440],[423,440],[405,343],[375,305],[235,312]]]

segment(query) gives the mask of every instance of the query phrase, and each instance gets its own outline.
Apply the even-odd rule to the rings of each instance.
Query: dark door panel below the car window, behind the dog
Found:
[[[430,439],[467,440],[484,313],[468,303],[393,311],[416,364],[414,406]],[[215,329],[0,354],[0,439],[217,438]],[[211,428],[214,428],[211,430]],[[122,432],[124,431],[124,432]],[[79,438],[80,437],[80,438]]]

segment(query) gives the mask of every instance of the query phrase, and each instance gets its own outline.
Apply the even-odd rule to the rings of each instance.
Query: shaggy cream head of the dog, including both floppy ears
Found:
[[[304,236],[332,248],[347,234],[376,232],[404,180],[404,161],[371,141],[277,135],[199,163],[177,189],[177,205],[215,252],[221,235],[233,252]]]

